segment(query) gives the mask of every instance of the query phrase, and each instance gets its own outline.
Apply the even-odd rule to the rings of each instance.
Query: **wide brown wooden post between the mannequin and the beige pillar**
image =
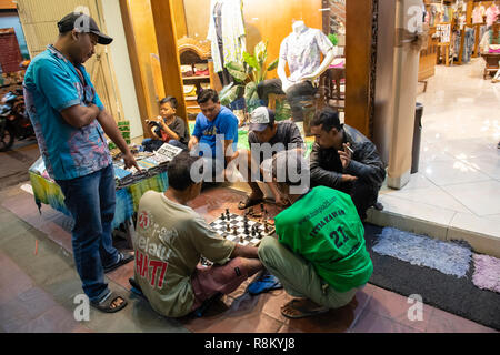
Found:
[[[346,123],[370,138],[372,0],[346,1]]]

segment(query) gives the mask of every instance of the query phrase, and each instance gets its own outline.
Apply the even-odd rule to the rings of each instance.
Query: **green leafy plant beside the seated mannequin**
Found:
[[[223,105],[229,105],[234,100],[243,97],[249,112],[260,105],[257,85],[266,79],[269,71],[278,67],[278,58],[268,67],[268,43],[269,41],[260,41],[254,50],[253,55],[243,52],[243,62],[229,62],[226,68],[234,82],[224,87],[220,92],[220,101]]]

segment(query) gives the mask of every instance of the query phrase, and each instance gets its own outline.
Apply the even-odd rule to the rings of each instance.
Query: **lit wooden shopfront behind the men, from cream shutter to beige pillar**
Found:
[[[290,63],[279,60],[283,43],[293,51],[297,32],[313,33],[306,38],[311,52],[304,53],[314,57],[319,73],[311,79],[313,94],[300,102],[303,116],[294,116],[284,94],[269,94],[267,104],[300,125],[309,148],[312,114],[326,106],[340,111],[347,124],[378,145],[390,186],[400,189],[410,180],[420,0],[74,0],[58,13],[47,13],[34,0],[18,7],[31,55],[53,41],[58,19],[74,10],[89,11],[114,38],[109,48],[98,47],[86,67],[104,105],[117,121],[130,123],[136,143],[150,135],[146,121],[159,114],[167,95],[177,98],[177,115],[192,131],[196,97],[212,88],[240,118],[240,143],[247,144],[243,123],[258,83],[289,78]]]

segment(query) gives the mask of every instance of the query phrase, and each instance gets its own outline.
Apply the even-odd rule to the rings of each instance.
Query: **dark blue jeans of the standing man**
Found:
[[[116,205],[112,164],[92,174],[58,180],[57,183],[74,219],[71,242],[83,292],[90,301],[98,301],[109,291],[104,282],[104,267],[118,261],[118,251],[111,237]]]

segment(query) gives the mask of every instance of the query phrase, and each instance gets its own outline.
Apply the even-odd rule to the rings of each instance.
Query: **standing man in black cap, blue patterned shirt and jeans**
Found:
[[[112,313],[127,301],[109,290],[104,273],[133,256],[112,245],[116,187],[104,133],[123,153],[126,168],[140,169],[82,65],[97,43],[109,44],[112,38],[83,13],[67,14],[58,28],[56,44],[27,70],[26,104],[47,171],[74,219],[73,256],[83,292],[92,306]]]

